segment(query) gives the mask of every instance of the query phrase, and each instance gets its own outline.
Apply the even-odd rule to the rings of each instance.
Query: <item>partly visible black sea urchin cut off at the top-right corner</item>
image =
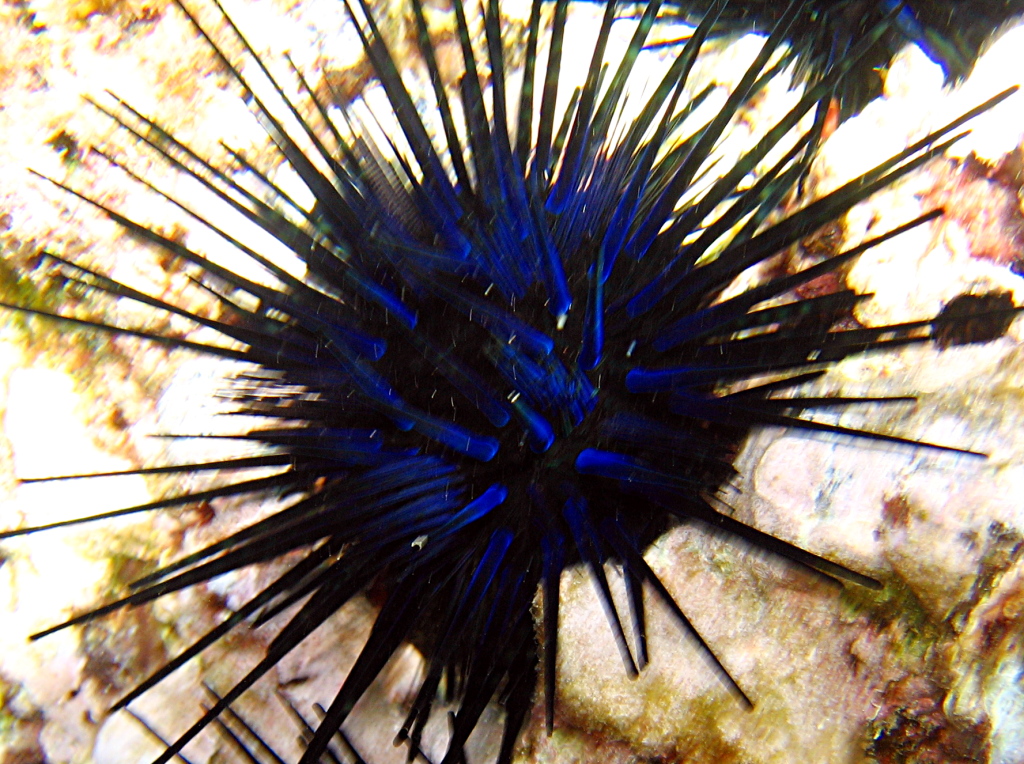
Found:
[[[672,0],[689,19],[699,19],[711,0]],[[767,34],[784,11],[784,4],[748,0],[723,10],[713,34]],[[862,56],[856,72],[837,90],[840,112],[859,111],[881,92],[880,73],[907,43],[915,43],[942,67],[947,82],[970,74],[989,36],[1011,18],[1024,13],[1022,0],[810,0],[794,20],[788,41],[797,53],[797,70],[805,75],[825,71],[850,54],[888,14],[893,24]]]

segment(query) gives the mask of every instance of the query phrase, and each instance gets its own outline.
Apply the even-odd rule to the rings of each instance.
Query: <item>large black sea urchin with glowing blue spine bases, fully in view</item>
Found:
[[[795,274],[736,294],[725,290],[742,271],[941,153],[967,119],[994,100],[838,192],[769,222],[805,171],[806,150],[814,142],[813,131],[790,143],[785,137],[887,34],[891,17],[812,78],[794,109],[716,179],[708,177],[716,147],[776,73],[781,45],[807,3],[788,5],[723,107],[694,130],[686,117],[703,93],[688,95],[688,76],[726,3],[711,7],[636,116],[626,117],[632,71],[660,4],[645,6],[625,54],[610,67],[605,46],[616,6],[606,5],[598,41],[588,52],[586,81],[560,112],[568,2],[554,6],[551,54],[543,66],[538,51],[549,9],[535,2],[526,85],[514,98],[511,130],[513,99],[506,91],[510,78],[497,0],[489,0],[479,19],[484,50],[474,44],[474,25],[462,3],[455,3],[467,74],[451,88],[421,2],[413,0],[419,52],[432,86],[427,107],[407,89],[367,2],[346,2],[393,112],[378,115],[396,126],[390,132],[370,129],[344,107],[329,108],[296,70],[275,76],[214,5],[220,11],[217,31],[217,25],[182,10],[241,85],[315,205],[294,201],[241,154],[234,159],[259,180],[258,188],[218,169],[127,103],[108,111],[171,166],[287,245],[302,260],[304,275],[237,241],[201,212],[193,214],[258,263],[272,286],[93,202],[136,237],[190,263],[200,288],[216,295],[220,314],[198,314],[51,255],[62,272],[195,322],[224,342],[15,307],[255,365],[234,380],[232,395],[241,412],[269,420],[245,436],[263,453],[139,472],[269,466],[278,473],[76,522],[261,493],[290,498],[287,508],[136,581],[125,598],[36,635],[302,553],[290,558],[297,561],[279,580],[116,705],[126,706],[236,627],[263,623],[301,603],[265,659],[160,762],[345,602],[370,589],[381,603],[373,632],[303,762],[319,760],[406,640],[426,659],[425,678],[399,731],[411,754],[443,691],[457,708],[443,761],[461,760],[463,745],[493,699],[506,713],[499,761],[510,761],[539,674],[549,726],[553,721],[557,587],[570,564],[589,569],[627,671],[636,673],[647,660],[647,592],[699,642],[739,701],[750,703],[642,557],[645,546],[679,520],[708,523],[828,578],[877,586],[737,522],[717,494],[732,473],[736,448],[761,424],[914,442],[801,416],[864,399],[777,395],[793,393],[833,362],[927,341],[943,322],[958,321],[842,327],[840,320],[860,296],[845,290],[796,295],[871,245],[938,213]],[[436,135],[427,117],[434,111]],[[751,181],[776,148],[774,164]],[[610,596],[607,561],[622,565],[625,608]],[[531,614],[539,588],[543,670]],[[633,644],[627,622],[638,635]]]

